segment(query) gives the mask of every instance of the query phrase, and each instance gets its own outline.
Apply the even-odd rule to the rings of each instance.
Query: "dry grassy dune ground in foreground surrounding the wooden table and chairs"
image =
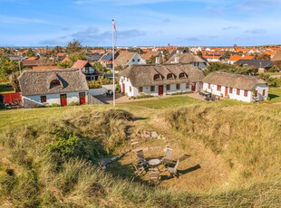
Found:
[[[279,207],[280,89],[265,103],[199,101],[186,96],[109,105],[0,111],[0,202],[4,207]],[[140,129],[165,139],[140,139]],[[130,137],[129,137],[130,136]],[[173,158],[179,179],[159,185],[135,176],[139,139],[145,156]]]

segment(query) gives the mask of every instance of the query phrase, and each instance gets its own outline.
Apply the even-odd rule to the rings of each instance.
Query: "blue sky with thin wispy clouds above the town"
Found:
[[[0,0],[1,46],[281,43],[281,0]]]

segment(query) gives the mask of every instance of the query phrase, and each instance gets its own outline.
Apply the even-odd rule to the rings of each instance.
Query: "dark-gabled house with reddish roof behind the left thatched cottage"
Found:
[[[72,68],[77,68],[85,75],[86,80],[98,80],[99,73],[96,71],[89,61],[78,60],[73,64]]]

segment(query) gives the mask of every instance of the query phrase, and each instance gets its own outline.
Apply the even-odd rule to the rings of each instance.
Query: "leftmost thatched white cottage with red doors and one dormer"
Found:
[[[78,69],[27,70],[18,78],[25,107],[71,102],[84,104],[89,90],[87,81]]]

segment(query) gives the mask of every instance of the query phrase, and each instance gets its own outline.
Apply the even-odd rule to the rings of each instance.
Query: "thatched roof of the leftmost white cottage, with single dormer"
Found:
[[[27,70],[18,80],[24,96],[89,90],[85,75],[78,69]],[[59,80],[60,85],[52,87],[53,80]]]

